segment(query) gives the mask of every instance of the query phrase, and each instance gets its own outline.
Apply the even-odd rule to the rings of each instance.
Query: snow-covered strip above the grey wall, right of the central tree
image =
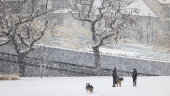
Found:
[[[85,51],[92,52],[92,49],[88,48]],[[163,61],[170,62],[170,52],[154,50],[152,46],[146,46],[142,44],[111,44],[100,47],[100,52],[103,54],[109,54],[114,56],[124,56],[130,58],[138,58],[144,60]]]

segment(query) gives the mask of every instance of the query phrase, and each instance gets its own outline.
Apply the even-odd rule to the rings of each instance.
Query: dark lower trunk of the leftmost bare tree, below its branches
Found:
[[[20,77],[25,77],[25,61],[24,61],[24,58],[25,58],[24,55],[18,55]]]

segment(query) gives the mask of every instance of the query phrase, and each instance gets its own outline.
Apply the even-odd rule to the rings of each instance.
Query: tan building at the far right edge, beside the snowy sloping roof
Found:
[[[170,1],[169,0],[144,0],[145,3],[159,17],[159,35],[170,33]]]

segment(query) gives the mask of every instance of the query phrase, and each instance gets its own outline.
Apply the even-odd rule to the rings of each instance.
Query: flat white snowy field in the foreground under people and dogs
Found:
[[[112,77],[26,77],[0,81],[0,96],[170,96],[170,77],[138,77],[132,87],[131,77],[124,77],[122,87],[112,87]],[[85,84],[94,86],[94,93]]]

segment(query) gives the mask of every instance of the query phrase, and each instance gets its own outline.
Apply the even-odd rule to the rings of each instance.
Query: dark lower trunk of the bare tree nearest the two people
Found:
[[[100,53],[99,53],[99,47],[93,47],[94,52],[94,59],[95,59],[95,67],[96,67],[96,75],[101,75],[101,61],[100,61]]]

